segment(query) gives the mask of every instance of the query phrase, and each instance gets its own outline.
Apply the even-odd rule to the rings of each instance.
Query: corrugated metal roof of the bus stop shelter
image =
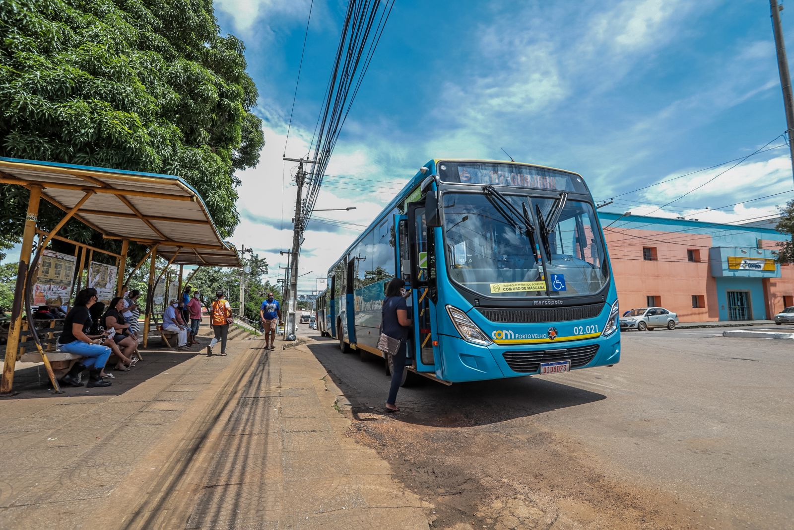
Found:
[[[108,239],[157,245],[176,265],[239,267],[198,191],[178,176],[0,157],[0,183],[40,186],[42,198]],[[87,195],[87,196],[86,196]]]

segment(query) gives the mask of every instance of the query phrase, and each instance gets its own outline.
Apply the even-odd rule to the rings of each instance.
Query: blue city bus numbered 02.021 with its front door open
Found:
[[[384,357],[380,310],[394,277],[410,286],[414,322],[403,381],[619,362],[615,281],[592,195],[574,172],[425,164],[329,269],[326,329],[343,352]]]

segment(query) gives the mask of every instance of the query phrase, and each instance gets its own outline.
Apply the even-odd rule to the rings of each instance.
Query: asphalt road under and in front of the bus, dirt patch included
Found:
[[[608,528],[599,513],[609,510],[625,517],[614,528],[791,528],[794,343],[728,339],[722,331],[624,333],[622,361],[611,368],[451,387],[426,381],[400,390],[403,412],[393,417],[383,414],[382,361],[361,362],[309,332],[318,340],[310,349],[362,421],[362,437],[382,446],[392,466],[413,466],[403,469],[408,487],[428,496],[443,490],[441,471],[456,462],[458,474],[477,478],[448,505],[437,493],[441,526],[465,517],[474,518],[465,523],[472,527],[509,522],[499,511],[499,495],[507,495],[557,513],[569,528]],[[416,444],[423,445],[414,454]],[[532,459],[536,452],[545,460]],[[422,466],[433,476],[422,478]],[[496,500],[484,506],[488,496]]]

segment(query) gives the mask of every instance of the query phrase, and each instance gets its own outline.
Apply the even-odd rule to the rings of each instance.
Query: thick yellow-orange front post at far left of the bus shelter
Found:
[[[22,306],[25,304],[25,280],[28,276],[30,252],[33,250],[33,234],[36,234],[36,222],[39,219],[39,202],[41,187],[30,187],[28,199],[28,214],[25,215],[25,231],[22,234],[22,249],[19,253],[19,270],[17,272],[17,287],[14,290],[13,306],[11,309],[11,323],[8,328],[6,342],[6,362],[2,369],[0,393],[10,393],[13,388],[13,368],[17,364],[17,345],[19,332],[22,326]]]

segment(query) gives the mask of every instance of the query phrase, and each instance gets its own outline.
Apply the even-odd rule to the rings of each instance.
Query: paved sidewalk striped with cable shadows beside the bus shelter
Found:
[[[107,389],[0,401],[0,529],[428,528],[326,370],[283,346],[152,352]]]

